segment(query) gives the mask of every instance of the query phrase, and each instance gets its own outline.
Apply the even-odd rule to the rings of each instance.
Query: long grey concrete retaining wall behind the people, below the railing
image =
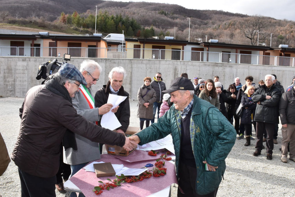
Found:
[[[181,73],[188,73],[190,79],[198,76],[205,80],[213,79],[215,75],[218,75],[219,81],[225,89],[234,82],[235,77],[240,77],[241,83],[245,84],[244,79],[248,75],[254,77],[253,83],[256,83],[256,87],[258,87],[258,81],[264,80],[264,76],[267,74],[276,74],[278,81],[286,89],[291,85],[292,76],[295,75],[295,67],[287,66],[175,60],[92,59],[102,67],[99,81],[92,86],[92,92],[95,94],[99,88],[106,84],[108,73],[113,67],[122,66],[127,71],[123,86],[130,93],[130,100],[137,100],[137,91],[143,84],[143,78],[146,76],[153,78],[157,72],[162,73],[167,88],[171,81]],[[24,97],[31,87],[41,84],[42,80],[36,80],[37,70],[41,63],[48,60],[53,60],[53,58],[0,57],[0,96]],[[71,58],[69,63],[79,68],[83,60],[84,58]],[[61,58],[58,58],[58,61],[61,62]]]

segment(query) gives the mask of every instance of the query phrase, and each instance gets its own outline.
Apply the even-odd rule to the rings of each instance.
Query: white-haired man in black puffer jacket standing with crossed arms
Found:
[[[274,85],[273,75],[265,76],[265,84],[261,86],[253,95],[252,100],[257,103],[255,110],[256,121],[256,146],[254,156],[261,154],[264,129],[267,132],[266,139],[266,159],[271,160],[273,154],[273,132],[275,124],[278,124],[278,102],[281,91]]]

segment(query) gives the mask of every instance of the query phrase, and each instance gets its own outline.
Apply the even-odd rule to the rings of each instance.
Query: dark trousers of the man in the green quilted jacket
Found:
[[[178,165],[178,190],[177,190],[177,196],[178,197],[200,197],[201,195],[198,195],[196,193],[196,178],[197,178],[197,169],[196,167],[191,167],[186,165],[184,162],[179,161]],[[181,193],[181,190],[183,193]],[[215,197],[217,194],[218,188],[202,197]]]

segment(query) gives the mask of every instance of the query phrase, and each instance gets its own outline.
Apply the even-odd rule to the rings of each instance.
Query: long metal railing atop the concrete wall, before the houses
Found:
[[[293,57],[249,55],[240,53],[185,51],[175,49],[137,49],[124,47],[0,47],[0,56],[61,57],[64,53],[71,54],[72,57],[82,58],[133,58],[295,66],[295,58]]]

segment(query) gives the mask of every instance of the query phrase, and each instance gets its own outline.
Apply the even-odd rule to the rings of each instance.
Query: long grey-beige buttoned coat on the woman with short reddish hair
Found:
[[[147,93],[147,91],[148,91],[148,93]],[[143,84],[137,92],[137,100],[138,100],[137,118],[153,119],[153,117],[154,117],[153,103],[156,101],[156,99],[157,99],[156,92],[152,88],[152,86],[149,85],[146,88],[145,84]],[[147,102],[150,103],[148,108],[146,108],[143,105],[144,103],[147,103]]]

